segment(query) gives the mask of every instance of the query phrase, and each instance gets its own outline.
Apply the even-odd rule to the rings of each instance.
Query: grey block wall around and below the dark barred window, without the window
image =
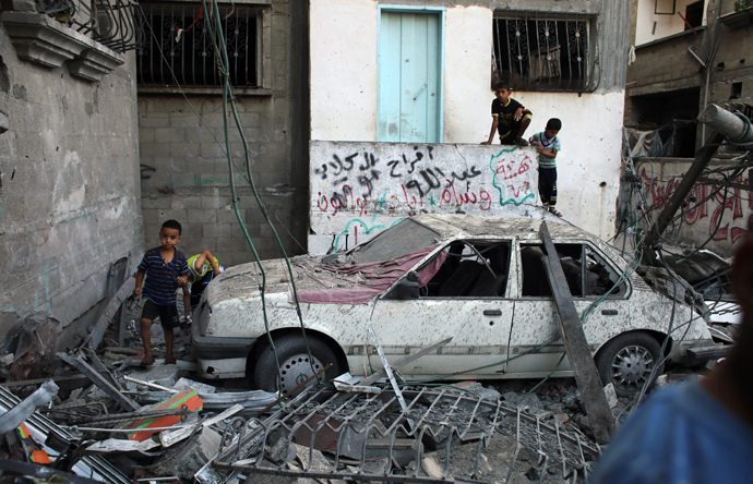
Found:
[[[289,254],[304,252],[308,217],[308,13],[303,2],[272,1],[263,11],[262,88],[239,92],[251,172]],[[162,222],[183,225],[187,255],[205,249],[225,266],[253,261],[232,207],[225,155],[222,94],[141,89],[139,135],[144,234],[157,244]],[[231,124],[234,126],[234,124]],[[216,136],[216,137],[215,137]],[[244,181],[243,148],[230,130],[238,207],[261,258],[279,257],[272,229]],[[154,169],[154,170],[152,170]],[[148,178],[146,178],[148,177]]]

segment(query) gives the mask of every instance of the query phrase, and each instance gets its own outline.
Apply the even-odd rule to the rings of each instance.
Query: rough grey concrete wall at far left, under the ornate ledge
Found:
[[[64,328],[59,347],[87,334],[113,277],[143,250],[134,63],[124,59],[83,81],[67,64],[20,60],[0,23],[0,315],[49,313]]]

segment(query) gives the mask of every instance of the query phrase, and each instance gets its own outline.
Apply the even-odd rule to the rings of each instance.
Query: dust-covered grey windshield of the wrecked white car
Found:
[[[439,243],[440,234],[413,219],[405,219],[351,252],[357,264],[390,261]]]

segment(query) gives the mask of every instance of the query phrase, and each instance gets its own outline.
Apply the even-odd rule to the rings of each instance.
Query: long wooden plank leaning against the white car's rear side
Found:
[[[570,293],[560,257],[557,255],[546,221],[541,222],[539,235],[547,251],[547,258],[543,262],[547,267],[549,286],[557,303],[557,312],[560,315],[562,341],[570,360],[570,366],[575,374],[575,382],[581,390],[583,406],[591,424],[594,437],[599,444],[606,444],[614,429],[614,415],[609,409],[594,356],[588,350],[588,341],[583,332],[581,318],[575,303],[573,303],[573,295]]]

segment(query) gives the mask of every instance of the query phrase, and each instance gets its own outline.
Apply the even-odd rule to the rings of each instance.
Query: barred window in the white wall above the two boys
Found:
[[[521,13],[494,19],[492,81],[522,90],[596,88],[596,22],[590,16]]]

